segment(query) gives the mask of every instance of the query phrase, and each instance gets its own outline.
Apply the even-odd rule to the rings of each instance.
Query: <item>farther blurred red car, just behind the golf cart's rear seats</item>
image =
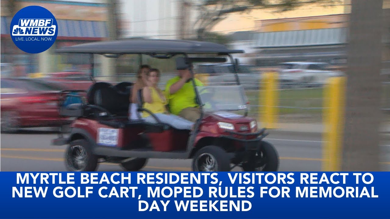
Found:
[[[88,74],[77,71],[50,73],[46,79],[60,82],[69,90],[88,90],[93,84]]]

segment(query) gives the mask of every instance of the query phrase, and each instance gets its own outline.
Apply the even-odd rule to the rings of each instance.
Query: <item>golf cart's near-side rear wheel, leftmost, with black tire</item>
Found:
[[[92,172],[97,169],[97,159],[97,156],[92,154],[88,141],[79,139],[72,141],[66,148],[64,162],[67,171]]]

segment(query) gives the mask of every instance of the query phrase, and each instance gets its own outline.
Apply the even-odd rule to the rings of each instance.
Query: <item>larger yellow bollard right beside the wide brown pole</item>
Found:
[[[323,171],[341,170],[345,86],[345,77],[332,77],[324,87]]]

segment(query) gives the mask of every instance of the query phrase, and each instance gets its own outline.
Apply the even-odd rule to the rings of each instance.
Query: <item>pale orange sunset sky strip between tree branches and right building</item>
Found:
[[[216,25],[214,31],[229,33],[236,31],[254,30],[255,20],[342,14],[343,12],[344,6],[342,5],[334,7],[308,5],[295,11],[284,13],[273,13],[272,10],[256,10],[245,14],[232,14],[229,16],[229,18],[221,21],[218,25]]]

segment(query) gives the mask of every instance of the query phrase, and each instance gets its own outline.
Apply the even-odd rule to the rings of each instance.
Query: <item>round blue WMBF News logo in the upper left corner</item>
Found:
[[[49,49],[58,34],[57,21],[50,11],[41,6],[28,6],[12,18],[12,41],[27,53],[41,53]]]

